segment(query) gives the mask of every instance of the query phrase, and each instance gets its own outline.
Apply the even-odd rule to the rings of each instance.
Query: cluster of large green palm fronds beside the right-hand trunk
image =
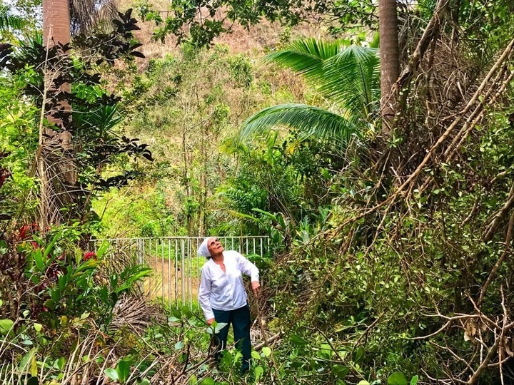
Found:
[[[380,61],[376,48],[348,41],[303,39],[267,58],[300,73],[333,107],[330,111],[305,104],[265,108],[243,123],[238,140],[273,127],[288,127],[298,130],[300,140],[316,137],[346,145],[352,135],[361,136],[378,118]]]

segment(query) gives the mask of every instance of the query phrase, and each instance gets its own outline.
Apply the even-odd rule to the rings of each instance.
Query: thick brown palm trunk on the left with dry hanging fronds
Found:
[[[43,43],[51,48],[63,45],[68,55],[66,44],[71,34],[91,31],[102,18],[117,15],[115,0],[43,0]],[[45,75],[45,88],[48,94],[66,94],[71,91],[71,84],[55,84],[59,78],[56,68],[49,68]],[[46,95],[48,95],[46,94]],[[46,105],[44,101],[43,106]],[[48,225],[61,224],[61,209],[67,205],[66,200],[76,199],[78,172],[76,170],[75,146],[72,133],[66,121],[60,118],[65,113],[71,119],[71,106],[61,98],[54,111],[46,111],[49,122],[59,126],[44,127],[41,122],[39,145],[41,157],[38,162],[38,175],[41,183],[39,199],[39,225],[41,229]],[[69,120],[68,120],[69,121]],[[60,147],[55,148],[55,143]]]

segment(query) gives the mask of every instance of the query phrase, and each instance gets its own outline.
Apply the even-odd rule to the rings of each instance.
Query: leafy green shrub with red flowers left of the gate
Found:
[[[25,241],[6,250],[6,255],[11,252],[15,257],[15,264],[10,264],[1,289],[9,299],[6,306],[16,306],[11,316],[16,317],[26,308],[29,309],[26,317],[56,330],[71,319],[92,314],[96,322],[108,327],[119,296],[130,292],[134,283],[151,274],[151,270],[143,266],[127,266],[121,273],[109,274],[106,270],[109,262],[104,259],[109,245],[86,253],[69,246],[80,240],[80,232],[64,228],[49,235],[48,241],[33,234],[36,241]],[[19,302],[11,302],[14,297],[9,294],[9,285],[16,277],[21,285],[33,285],[35,295],[28,292]]]

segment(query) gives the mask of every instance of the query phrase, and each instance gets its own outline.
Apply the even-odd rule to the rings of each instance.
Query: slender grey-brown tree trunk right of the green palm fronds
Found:
[[[398,95],[397,91],[393,90],[393,85],[400,75],[396,0],[378,1],[378,19],[381,56],[382,130],[385,136],[389,136],[398,108]]]

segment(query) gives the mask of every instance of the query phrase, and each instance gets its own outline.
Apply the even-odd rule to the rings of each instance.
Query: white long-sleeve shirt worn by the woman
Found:
[[[201,268],[198,302],[206,319],[214,318],[212,309],[235,310],[246,305],[247,296],[242,273],[252,282],[259,279],[256,265],[234,250],[223,251],[225,272],[209,258]]]

